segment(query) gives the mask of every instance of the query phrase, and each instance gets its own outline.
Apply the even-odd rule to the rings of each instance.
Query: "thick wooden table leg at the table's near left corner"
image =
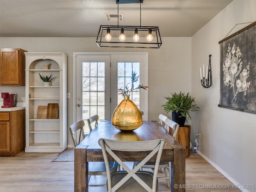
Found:
[[[88,192],[88,162],[86,162],[86,148],[79,146],[74,150],[74,191]]]

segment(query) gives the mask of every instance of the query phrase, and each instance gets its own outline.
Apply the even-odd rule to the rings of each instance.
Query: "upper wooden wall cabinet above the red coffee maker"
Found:
[[[0,86],[25,86],[25,54],[22,49],[0,49]]]

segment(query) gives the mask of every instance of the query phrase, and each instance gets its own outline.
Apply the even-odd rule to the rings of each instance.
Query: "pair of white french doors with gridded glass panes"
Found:
[[[95,114],[111,120],[122,101],[119,88],[131,82],[132,71],[139,75],[138,84],[148,84],[148,53],[81,53],[74,52],[74,122]],[[148,91],[133,92],[130,98],[148,120]],[[88,126],[84,127],[89,132]]]

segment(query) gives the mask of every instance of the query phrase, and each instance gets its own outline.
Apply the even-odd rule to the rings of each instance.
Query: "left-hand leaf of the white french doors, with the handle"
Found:
[[[98,114],[100,120],[110,120],[110,56],[81,55],[76,60],[76,121],[84,120],[84,132],[89,132],[87,119]]]

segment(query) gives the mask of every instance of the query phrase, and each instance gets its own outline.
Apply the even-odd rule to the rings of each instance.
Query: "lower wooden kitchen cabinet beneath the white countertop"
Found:
[[[14,156],[25,149],[25,110],[0,112],[0,156]]]

